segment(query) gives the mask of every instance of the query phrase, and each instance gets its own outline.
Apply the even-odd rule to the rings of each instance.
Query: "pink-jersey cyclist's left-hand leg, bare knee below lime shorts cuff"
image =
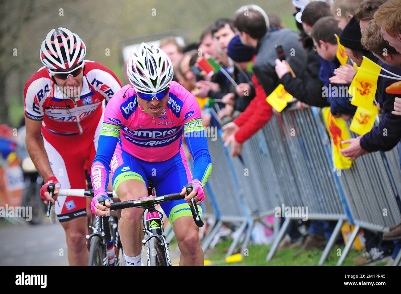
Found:
[[[118,145],[111,160],[111,172],[113,188],[121,201],[148,196],[146,176],[140,162],[122,151]],[[144,210],[139,208],[127,208],[121,212],[118,227],[124,254],[128,257],[134,258],[141,254],[141,240],[144,236],[141,221],[143,212]]]

